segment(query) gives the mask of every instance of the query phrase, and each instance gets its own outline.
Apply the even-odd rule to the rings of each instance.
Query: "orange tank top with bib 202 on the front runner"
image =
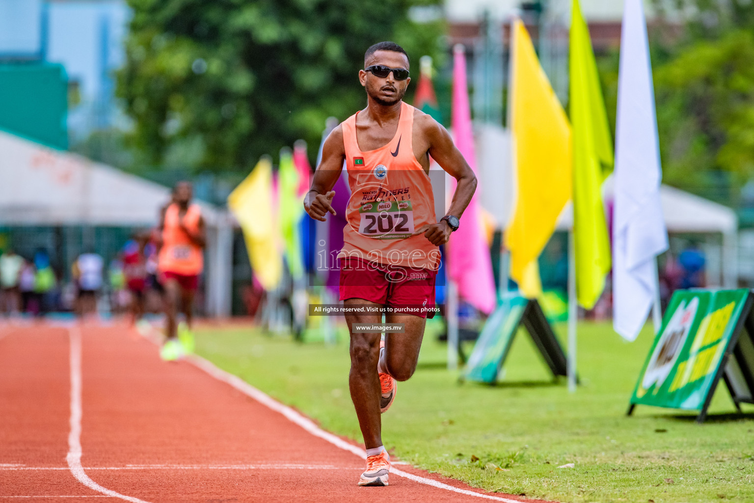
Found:
[[[356,139],[356,116],[342,124],[351,199],[345,210],[339,257],[415,268],[440,266],[440,249],[421,225],[437,223],[428,174],[414,156],[414,107],[402,103],[398,130],[387,145],[363,152]]]

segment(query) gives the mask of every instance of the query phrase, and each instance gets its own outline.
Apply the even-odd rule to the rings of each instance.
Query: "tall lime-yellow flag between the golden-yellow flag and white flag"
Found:
[[[601,188],[602,165],[613,164],[613,150],[589,29],[578,0],[572,5],[570,66],[576,296],[590,309],[602,294],[611,267]]]

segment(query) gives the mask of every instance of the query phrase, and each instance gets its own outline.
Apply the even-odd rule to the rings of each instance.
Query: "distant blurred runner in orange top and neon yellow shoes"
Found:
[[[167,340],[160,351],[163,360],[177,360],[194,351],[190,331],[193,321],[194,294],[204,268],[204,219],[198,204],[192,204],[191,182],[178,182],[173,200],[161,213],[161,248],[158,254],[159,278],[164,288]],[[185,323],[178,327],[178,311]]]

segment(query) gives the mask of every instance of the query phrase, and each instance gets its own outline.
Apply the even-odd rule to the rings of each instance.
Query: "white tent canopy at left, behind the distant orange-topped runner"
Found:
[[[170,190],[70,152],[0,131],[0,225],[156,225]],[[207,311],[229,314],[228,213],[199,203],[207,222]]]

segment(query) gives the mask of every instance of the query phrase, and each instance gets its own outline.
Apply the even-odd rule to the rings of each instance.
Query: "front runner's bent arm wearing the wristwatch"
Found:
[[[423,133],[430,143],[429,155],[458,182],[446,214],[461,219],[474,191],[477,190],[477,176],[474,175],[474,171],[471,170],[464,156],[455,147],[450,134],[442,125],[429,115],[421,117],[421,122]],[[452,228],[443,220],[434,225],[423,225],[414,234],[422,232],[432,244],[439,246],[448,241]]]

